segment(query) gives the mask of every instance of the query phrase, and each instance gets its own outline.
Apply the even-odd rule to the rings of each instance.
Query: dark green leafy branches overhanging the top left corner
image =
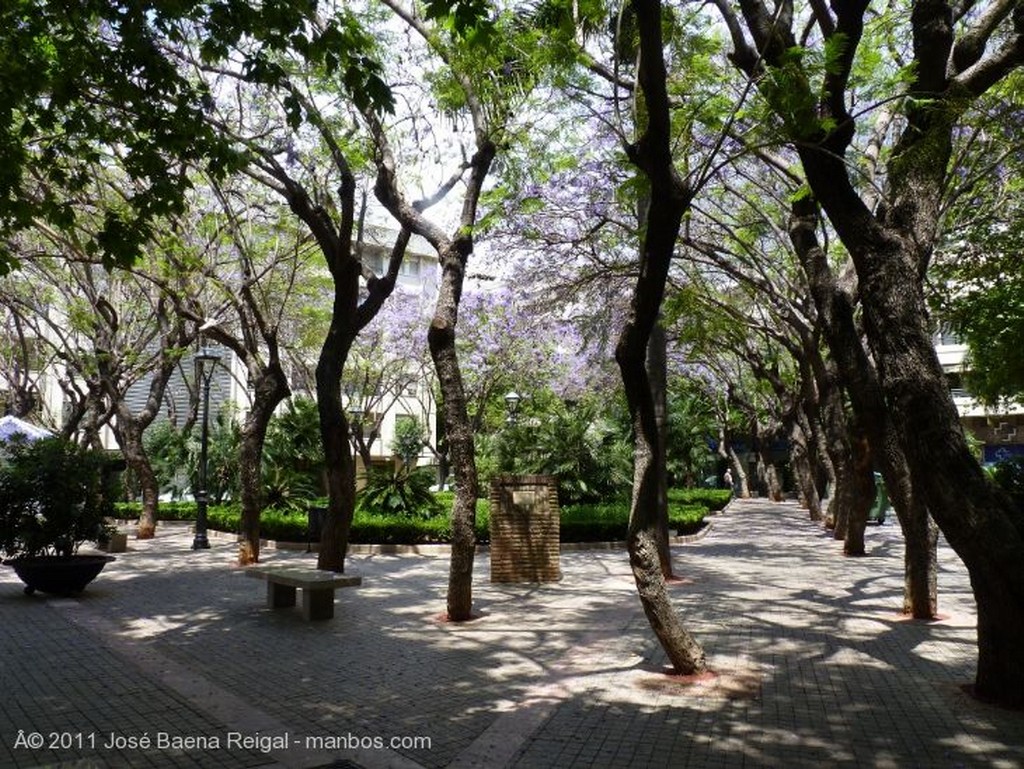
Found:
[[[278,54],[291,51],[336,79],[359,109],[394,108],[375,41],[345,8],[329,15],[310,0],[6,2],[0,274],[16,264],[10,238],[40,220],[74,225],[76,199],[100,167],[118,168],[128,181],[85,243],[110,267],[133,261],[160,218],[184,210],[189,166],[218,178],[241,165],[238,148],[209,119],[209,86],[189,79],[173,55],[197,37],[208,63],[241,57],[254,82],[279,84]],[[295,100],[287,106],[300,113]]]

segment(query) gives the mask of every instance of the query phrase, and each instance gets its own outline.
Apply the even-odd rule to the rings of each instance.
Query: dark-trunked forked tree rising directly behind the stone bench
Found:
[[[343,571],[355,465],[341,380],[357,334],[394,288],[410,237],[408,230],[397,234],[384,274],[362,264],[357,112],[366,119],[392,110],[394,101],[376,58],[377,43],[357,12],[340,7],[318,12],[303,3],[242,6],[240,17],[258,33],[272,33],[261,13],[281,11],[273,29],[282,26],[287,34],[271,34],[267,45],[253,47],[237,36],[211,43],[203,30],[186,29],[179,39],[190,46],[178,55],[198,79],[212,81],[218,93],[233,94],[234,103],[225,97],[215,104],[211,124],[243,156],[243,171],[280,196],[308,229],[331,275],[330,326],[315,371],[329,498],[317,566]],[[225,22],[234,19],[214,13],[208,24]],[[232,52],[237,59],[229,65],[210,63]]]

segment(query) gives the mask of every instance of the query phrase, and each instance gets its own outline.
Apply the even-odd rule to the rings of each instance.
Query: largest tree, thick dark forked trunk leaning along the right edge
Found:
[[[908,15],[909,70],[899,85],[900,125],[892,132],[880,200],[858,189],[847,155],[857,121],[848,109],[865,29],[866,3],[815,6],[798,40],[793,13],[744,2],[742,22],[716,2],[730,31],[732,58],[761,88],[778,134],[798,153],[813,205],[820,206],[853,260],[864,328],[895,437],[920,495],[971,573],[978,604],[980,696],[1024,702],[1024,538],[1012,504],[971,455],[943,376],[922,282],[934,254],[947,188],[952,134],[981,96],[1024,60],[1012,3],[957,14],[945,2],[915,2]],[[992,43],[993,47],[988,48]],[[827,54],[823,73],[804,51]],[[870,202],[872,205],[868,205]],[[874,450],[887,446],[876,440]]]

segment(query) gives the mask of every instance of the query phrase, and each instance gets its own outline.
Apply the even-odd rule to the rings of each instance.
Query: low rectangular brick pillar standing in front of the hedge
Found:
[[[499,475],[490,481],[490,582],[562,579],[558,482],[553,475]]]

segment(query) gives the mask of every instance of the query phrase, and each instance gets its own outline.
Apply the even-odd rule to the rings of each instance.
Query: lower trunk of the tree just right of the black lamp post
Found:
[[[242,486],[242,538],[239,565],[259,561],[259,518],[262,510],[263,441],[278,405],[291,394],[281,364],[272,361],[256,382],[252,409],[242,426],[240,475]]]

